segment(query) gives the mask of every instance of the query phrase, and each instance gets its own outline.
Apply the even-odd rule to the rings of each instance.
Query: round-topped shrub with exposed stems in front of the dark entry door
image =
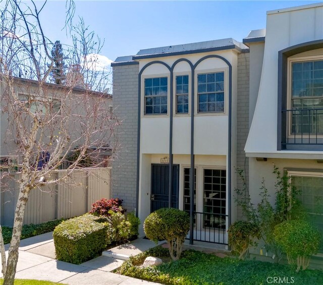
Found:
[[[178,260],[190,228],[190,218],[185,211],[175,208],[161,208],[146,218],[143,228],[147,238],[155,243],[158,240],[166,240],[172,259]]]

